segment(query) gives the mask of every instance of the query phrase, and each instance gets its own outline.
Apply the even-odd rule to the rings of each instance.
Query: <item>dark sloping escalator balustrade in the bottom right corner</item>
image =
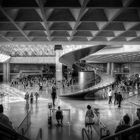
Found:
[[[122,140],[122,136],[127,136],[127,137],[133,136],[133,140],[138,140],[136,137],[136,134],[140,134],[140,124],[138,124],[136,126],[132,126],[132,127],[125,129],[123,131],[120,131],[114,135],[105,137],[102,140],[115,140],[116,138],[117,138],[117,140]]]

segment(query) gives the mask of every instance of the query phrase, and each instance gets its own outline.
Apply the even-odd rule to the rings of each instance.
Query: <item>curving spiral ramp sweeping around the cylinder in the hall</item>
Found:
[[[104,45],[100,45],[100,46],[97,46],[96,48],[98,48],[98,47],[100,49],[102,49],[105,46]],[[88,48],[88,49],[89,50],[82,49],[82,50],[78,50],[78,51],[73,51],[73,52],[67,53],[67,54],[63,55],[60,58],[60,62],[70,66],[70,65],[74,64],[74,62],[82,59],[83,57],[86,57],[87,55],[89,55],[91,53],[95,53],[95,52],[98,51],[97,49],[94,49],[94,51],[93,51],[92,47]],[[88,53],[86,53],[86,52],[88,52]],[[112,85],[115,82],[114,77],[109,75],[109,74],[102,73],[102,72],[97,72],[96,74],[97,74],[97,76],[100,77],[100,81],[97,84],[95,84],[95,85],[91,84],[91,86],[88,87],[88,88],[85,88],[85,89],[82,89],[82,90],[79,89],[78,91],[62,94],[62,95],[60,95],[60,97],[85,98],[88,94],[90,94],[90,96],[93,95],[93,97],[94,97],[94,95],[99,90],[102,90],[102,89]]]

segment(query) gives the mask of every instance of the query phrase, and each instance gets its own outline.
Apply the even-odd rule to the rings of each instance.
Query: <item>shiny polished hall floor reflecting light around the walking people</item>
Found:
[[[140,96],[135,95],[131,98],[125,99],[122,102],[122,107],[118,109],[116,105],[108,104],[107,100],[74,100],[66,98],[57,98],[56,107],[61,106],[65,110],[63,127],[57,128],[55,126],[55,114],[52,113],[53,125],[48,126],[48,116],[50,110],[48,103],[51,103],[51,98],[46,92],[42,93],[38,102],[30,104],[31,110],[31,127],[28,130],[28,136],[31,140],[35,140],[40,128],[43,132],[43,140],[82,140],[82,128],[85,127],[85,113],[86,106],[89,104],[92,108],[98,108],[100,113],[100,120],[110,130],[111,134],[114,133],[115,128],[123,115],[128,113],[131,118],[131,123],[136,119],[136,108],[140,106]],[[16,97],[4,96],[1,97],[0,103],[4,105],[4,113],[13,122],[15,128],[19,126],[24,117],[26,116],[26,102],[23,97],[18,100]],[[70,115],[69,111],[70,110]],[[98,133],[93,130],[92,137],[99,139]]]

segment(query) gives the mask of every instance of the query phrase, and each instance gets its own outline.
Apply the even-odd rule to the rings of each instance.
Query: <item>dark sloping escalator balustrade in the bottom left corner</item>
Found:
[[[0,123],[0,134],[1,137],[3,136],[5,138],[5,140],[9,137],[14,140],[29,140],[25,136],[18,134],[14,129],[10,129],[2,123]],[[10,138],[8,140],[10,140]]]

